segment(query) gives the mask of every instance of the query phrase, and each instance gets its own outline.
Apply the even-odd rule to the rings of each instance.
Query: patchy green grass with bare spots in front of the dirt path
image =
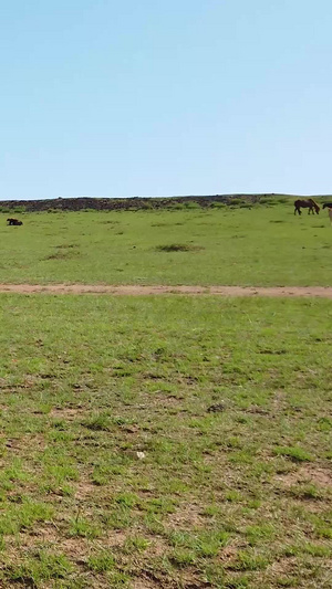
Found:
[[[329,301],[0,304],[2,587],[331,587]]]

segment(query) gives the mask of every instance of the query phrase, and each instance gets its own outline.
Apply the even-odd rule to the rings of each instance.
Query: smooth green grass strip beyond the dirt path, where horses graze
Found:
[[[325,211],[294,217],[293,200],[124,212],[0,215],[0,282],[331,285]],[[287,202],[283,202],[287,200]]]

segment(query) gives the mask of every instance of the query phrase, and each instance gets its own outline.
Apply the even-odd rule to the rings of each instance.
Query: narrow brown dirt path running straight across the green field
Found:
[[[320,296],[332,298],[332,286],[143,286],[97,284],[0,284],[0,293],[110,294],[110,295],[217,295],[217,296]]]

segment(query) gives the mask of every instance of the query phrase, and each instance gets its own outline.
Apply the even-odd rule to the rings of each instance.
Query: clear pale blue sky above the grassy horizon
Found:
[[[0,199],[332,193],[331,0],[3,0]]]

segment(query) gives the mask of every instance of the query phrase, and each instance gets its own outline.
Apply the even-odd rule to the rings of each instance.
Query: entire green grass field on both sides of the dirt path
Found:
[[[2,214],[0,282],[331,285],[325,212],[268,204]],[[1,588],[332,587],[330,301],[0,313]]]

